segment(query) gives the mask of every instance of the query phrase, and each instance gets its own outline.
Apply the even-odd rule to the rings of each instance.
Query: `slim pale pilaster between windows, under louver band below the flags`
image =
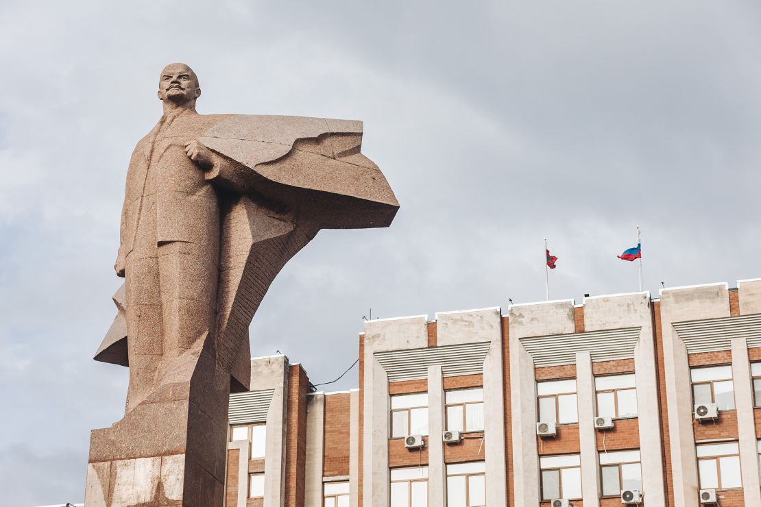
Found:
[[[599,456],[594,429],[594,375],[589,352],[576,353],[576,388],[578,439],[581,449],[581,494],[584,507],[600,507],[600,483],[597,475]]]

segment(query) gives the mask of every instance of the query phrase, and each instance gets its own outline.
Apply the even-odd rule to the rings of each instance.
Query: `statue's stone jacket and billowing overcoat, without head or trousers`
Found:
[[[157,239],[202,242],[212,233],[199,228],[204,214],[221,209],[217,354],[245,388],[248,325],[285,262],[320,229],[387,227],[399,204],[360,152],[361,122],[189,111],[161,127],[139,141],[130,160],[119,259],[134,245],[151,160],[176,155],[186,162],[181,148],[192,139],[209,147],[215,164],[208,171],[188,176],[174,172],[172,163],[158,168]],[[123,289],[114,302],[119,312],[95,359],[128,365]]]

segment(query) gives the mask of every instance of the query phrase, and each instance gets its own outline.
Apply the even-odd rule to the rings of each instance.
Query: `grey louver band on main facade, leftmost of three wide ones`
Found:
[[[375,359],[386,370],[390,382],[428,378],[428,366],[441,365],[445,377],[476,375],[483,372],[483,361],[491,342],[444,345],[413,350],[376,352]]]

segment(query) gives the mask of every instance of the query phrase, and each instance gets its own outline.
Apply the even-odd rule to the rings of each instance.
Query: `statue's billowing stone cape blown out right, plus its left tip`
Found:
[[[362,123],[301,116],[205,116],[199,141],[228,160],[222,208],[215,344],[235,391],[250,383],[248,326],[283,265],[320,229],[388,227],[399,209],[378,167],[360,153]],[[94,359],[129,366],[124,286]]]

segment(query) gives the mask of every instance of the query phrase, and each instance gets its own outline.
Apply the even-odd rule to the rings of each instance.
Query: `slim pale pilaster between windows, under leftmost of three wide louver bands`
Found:
[[[428,505],[446,505],[444,465],[444,384],[441,365],[428,366]]]

